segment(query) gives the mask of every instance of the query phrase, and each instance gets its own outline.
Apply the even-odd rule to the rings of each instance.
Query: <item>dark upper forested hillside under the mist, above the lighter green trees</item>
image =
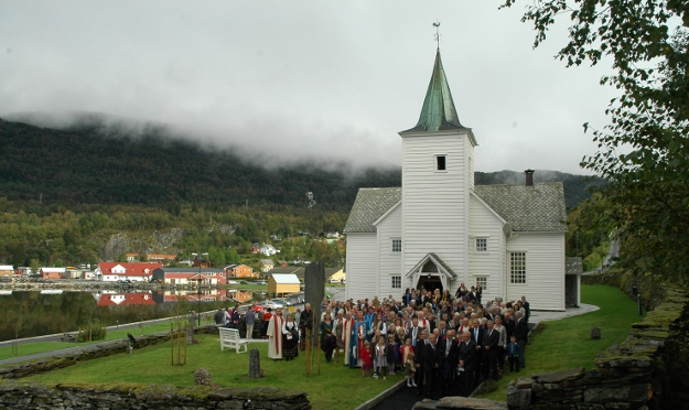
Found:
[[[0,196],[62,204],[279,204],[305,206],[306,192],[321,208],[348,212],[363,186],[400,186],[400,169],[354,171],[341,164],[271,166],[232,149],[211,150],[174,139],[162,127],[132,137],[117,127],[88,123],[69,130],[0,119]],[[560,172],[536,182],[564,182],[567,205],[588,197],[596,181]],[[521,172],[476,173],[477,184],[524,183]],[[68,206],[68,205],[67,205]]]

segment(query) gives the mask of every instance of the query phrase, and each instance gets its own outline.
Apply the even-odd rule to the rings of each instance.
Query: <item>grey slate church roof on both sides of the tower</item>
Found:
[[[476,185],[475,194],[505,219],[513,231],[564,231],[567,209],[561,182]],[[373,225],[401,199],[400,187],[359,188],[344,231],[375,233]]]

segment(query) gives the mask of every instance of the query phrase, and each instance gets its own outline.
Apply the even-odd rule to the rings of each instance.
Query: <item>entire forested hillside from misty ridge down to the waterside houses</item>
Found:
[[[14,266],[208,251],[217,263],[258,268],[254,242],[272,242],[280,259],[342,266],[344,244],[324,234],[342,231],[359,187],[401,185],[399,168],[270,166],[270,158],[200,147],[153,126],[133,134],[99,121],[58,130],[0,119],[0,263]],[[524,183],[523,172],[475,176]],[[601,183],[551,171],[534,179],[562,181],[569,207]]]

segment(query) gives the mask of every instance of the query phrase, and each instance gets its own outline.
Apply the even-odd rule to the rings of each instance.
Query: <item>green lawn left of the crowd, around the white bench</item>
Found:
[[[164,343],[134,350],[132,355],[119,354],[88,360],[23,380],[110,386],[166,384],[183,387],[193,386],[194,370],[205,367],[213,382],[220,388],[270,386],[301,390],[308,393],[314,409],[351,410],[403,379],[400,374],[389,376],[387,380],[362,378],[362,370],[343,366],[342,357],[340,364],[325,363],[324,357],[321,357],[321,375],[314,370],[309,377],[303,352],[294,360],[272,362],[267,356],[267,343],[252,343],[249,344],[249,350],[258,348],[265,373],[263,378],[255,380],[247,377],[249,353],[220,352],[217,335],[197,335],[197,338],[198,344],[187,346],[185,366],[171,365],[170,343]]]

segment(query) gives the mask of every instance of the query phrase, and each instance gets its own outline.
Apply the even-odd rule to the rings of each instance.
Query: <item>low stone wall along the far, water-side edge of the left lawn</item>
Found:
[[[203,325],[201,327],[194,328],[194,333],[218,334],[218,330],[215,325]],[[182,337],[184,337],[184,335]],[[136,338],[136,348],[141,348],[170,342],[170,332],[159,332],[150,335],[138,336]],[[79,362],[126,353],[128,346],[129,341],[127,339],[104,342],[96,345],[85,345],[83,347],[78,347],[78,350],[76,352],[63,354],[57,353],[54,356],[41,359],[39,362],[0,367],[0,379],[15,379],[33,376],[41,373],[73,366]]]

